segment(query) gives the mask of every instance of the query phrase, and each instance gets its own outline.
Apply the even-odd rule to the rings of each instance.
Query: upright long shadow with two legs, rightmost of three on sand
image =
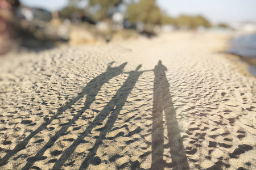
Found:
[[[152,163],[151,169],[164,169],[165,166],[174,169],[189,169],[187,157],[180,137],[179,125],[176,120],[176,112],[172,104],[170,85],[166,78],[167,68],[158,62],[154,74],[154,98],[152,109]],[[170,147],[172,163],[163,160],[164,153],[164,127],[163,114],[166,117],[168,147]]]

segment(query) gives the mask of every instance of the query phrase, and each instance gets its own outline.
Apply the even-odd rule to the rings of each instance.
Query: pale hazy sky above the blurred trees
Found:
[[[60,9],[68,5],[68,0],[20,0],[20,2],[47,10]],[[256,0],[157,0],[156,2],[172,17],[181,14],[203,15],[213,24],[256,23]]]

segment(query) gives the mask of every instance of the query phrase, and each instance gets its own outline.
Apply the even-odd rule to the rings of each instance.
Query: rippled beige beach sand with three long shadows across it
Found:
[[[256,169],[256,79],[223,35],[0,58],[0,169]]]

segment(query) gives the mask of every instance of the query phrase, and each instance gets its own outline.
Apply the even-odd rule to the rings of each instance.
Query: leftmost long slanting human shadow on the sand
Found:
[[[84,103],[84,108],[80,112],[77,112],[77,114],[72,118],[71,121],[68,122],[67,125],[64,125],[57,133],[49,139],[49,141],[44,145],[44,147],[36,154],[36,156],[32,158],[28,158],[27,164],[23,167],[23,169],[29,169],[32,164],[38,160],[37,158],[41,158],[41,156],[44,154],[44,152],[47,150],[47,148],[51,147],[56,140],[67,131],[69,126],[71,126],[80,116],[81,113],[84,112],[86,109],[90,107],[90,105],[95,100],[95,96],[98,94],[98,91],[100,91],[101,86],[103,84],[107,83],[110,79],[112,79],[114,76],[117,76],[122,73],[123,68],[126,66],[127,62],[122,63],[122,65],[118,67],[112,67],[112,63],[109,63],[107,70],[105,73],[102,73],[98,75],[96,78],[90,80],[89,83],[86,84],[86,86],[82,89],[79,95],[77,95],[74,99],[69,100],[67,103],[62,105],[59,109],[57,109],[57,113],[54,114],[50,119],[45,119],[46,122],[44,122],[42,125],[40,125],[36,130],[32,131],[23,141],[19,142],[18,145],[14,147],[13,150],[7,152],[5,156],[0,160],[0,165],[5,164],[11,156],[19,152],[20,150],[24,149],[27,146],[27,143],[30,141],[32,137],[34,137],[36,134],[38,134],[40,131],[44,130],[47,125],[51,124],[53,120],[55,120],[57,117],[59,117],[63,112],[65,112],[67,109],[71,108],[73,104],[75,104],[77,101],[79,101],[82,97],[86,96],[86,100]]]

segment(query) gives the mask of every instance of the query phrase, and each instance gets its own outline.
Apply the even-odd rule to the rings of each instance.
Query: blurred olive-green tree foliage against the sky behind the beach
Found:
[[[77,4],[83,0],[69,0],[69,7],[62,12],[67,16],[71,12],[77,11]],[[210,23],[203,16],[181,15],[178,18],[171,18],[161,11],[156,5],[156,0],[140,0],[137,3],[125,4],[124,0],[87,0],[88,6],[84,9],[85,15],[98,22],[109,19],[118,5],[121,3],[127,6],[127,19],[131,24],[137,22],[144,23],[146,28],[153,28],[155,25],[171,24],[178,27],[187,26],[189,28],[197,28],[200,25],[210,27]],[[134,2],[134,1],[131,1]]]

